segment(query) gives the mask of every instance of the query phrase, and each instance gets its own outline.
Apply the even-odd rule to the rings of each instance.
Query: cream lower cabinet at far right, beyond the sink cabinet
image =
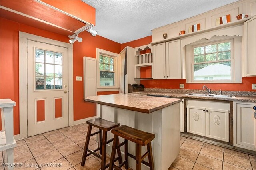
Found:
[[[256,119],[253,106],[255,103],[233,103],[234,146],[255,150],[256,146]]]

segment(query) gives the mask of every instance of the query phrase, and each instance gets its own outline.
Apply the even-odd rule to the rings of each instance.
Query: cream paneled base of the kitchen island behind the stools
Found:
[[[167,170],[176,159],[180,150],[180,103],[176,103],[154,111],[141,113],[120,109],[116,107],[97,104],[97,117],[108,121],[127,125],[132,128],[155,134],[152,141],[154,166],[156,170]],[[108,140],[114,135],[109,131]],[[119,137],[120,143],[124,141]],[[112,143],[107,146],[107,153],[111,154]],[[124,161],[124,146],[121,147]],[[146,152],[146,146],[142,146],[142,155]],[[136,144],[129,141],[129,153],[136,156]],[[148,162],[148,157],[144,159]],[[129,157],[129,167],[136,169],[136,161]],[[149,167],[142,164],[142,170]]]

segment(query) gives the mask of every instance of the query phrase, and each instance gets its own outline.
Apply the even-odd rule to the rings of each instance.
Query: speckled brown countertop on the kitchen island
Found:
[[[181,99],[175,98],[159,98],[132,94],[89,96],[84,100],[142,113],[152,113],[181,101]]]

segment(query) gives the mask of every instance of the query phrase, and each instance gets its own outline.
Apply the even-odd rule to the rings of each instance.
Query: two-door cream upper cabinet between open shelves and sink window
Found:
[[[181,79],[180,39],[154,45],[154,79]]]

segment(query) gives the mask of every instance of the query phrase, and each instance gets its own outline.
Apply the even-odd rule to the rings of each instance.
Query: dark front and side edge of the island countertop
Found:
[[[102,101],[94,101],[94,100],[90,100],[90,99],[84,99],[84,101],[88,101],[88,102],[97,103],[97,104],[101,104],[101,105],[117,107],[117,108],[120,108],[120,109],[127,109],[127,110],[131,110],[131,111],[137,111],[137,112],[142,112],[142,113],[148,113],[149,114],[149,113],[152,113],[154,111],[158,111],[160,109],[168,107],[170,105],[174,105],[175,103],[179,103],[180,101],[182,101],[182,99],[174,101],[174,102],[171,102],[171,103],[167,103],[167,104],[159,106],[159,107],[155,107],[153,109],[142,109],[142,108],[137,108],[137,107],[130,107],[130,106],[113,104],[113,103],[107,103],[107,102],[102,102]]]

